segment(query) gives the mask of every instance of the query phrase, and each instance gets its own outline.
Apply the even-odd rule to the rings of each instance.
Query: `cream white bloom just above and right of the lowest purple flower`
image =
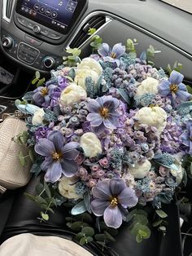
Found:
[[[134,176],[135,179],[142,179],[151,170],[151,161],[144,161],[143,163],[137,163],[134,167],[129,167],[128,171]]]

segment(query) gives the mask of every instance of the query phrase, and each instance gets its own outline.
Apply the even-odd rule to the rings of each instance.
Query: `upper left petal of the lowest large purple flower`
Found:
[[[98,185],[92,188],[93,196],[98,199],[110,200],[112,195],[109,183],[110,181],[108,179],[98,182]]]

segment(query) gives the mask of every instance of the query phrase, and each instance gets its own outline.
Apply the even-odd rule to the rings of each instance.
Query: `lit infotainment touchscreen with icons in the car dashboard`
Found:
[[[60,33],[68,29],[85,8],[86,0],[18,0],[16,12]]]

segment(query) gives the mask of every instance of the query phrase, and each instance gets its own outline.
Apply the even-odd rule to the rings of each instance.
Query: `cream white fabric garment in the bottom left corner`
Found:
[[[76,243],[58,236],[12,236],[0,246],[1,256],[93,256]]]

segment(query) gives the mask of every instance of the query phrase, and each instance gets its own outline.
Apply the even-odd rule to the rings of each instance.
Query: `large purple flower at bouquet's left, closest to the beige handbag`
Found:
[[[41,169],[46,171],[46,182],[55,183],[62,174],[72,177],[78,170],[76,157],[79,151],[76,149],[79,144],[75,142],[63,145],[63,135],[58,131],[51,131],[47,139],[39,139],[35,145],[35,152],[46,157],[41,164]]]

